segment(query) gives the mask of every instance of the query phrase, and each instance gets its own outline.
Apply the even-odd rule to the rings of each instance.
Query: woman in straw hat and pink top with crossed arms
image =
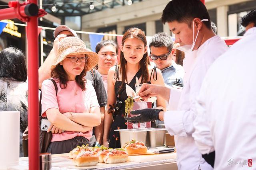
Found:
[[[52,65],[51,80],[42,83],[42,116],[52,123],[52,141],[47,152],[70,152],[77,145],[90,145],[92,127],[100,125],[96,93],[84,76],[98,63],[98,55],[88,51],[78,37],[66,37],[58,44],[58,57]],[[50,132],[51,131],[51,132]]]

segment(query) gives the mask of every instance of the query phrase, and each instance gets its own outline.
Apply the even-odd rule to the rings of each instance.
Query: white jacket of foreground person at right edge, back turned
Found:
[[[216,60],[196,102],[193,137],[216,170],[256,169],[256,27]],[[248,166],[252,159],[252,167]]]

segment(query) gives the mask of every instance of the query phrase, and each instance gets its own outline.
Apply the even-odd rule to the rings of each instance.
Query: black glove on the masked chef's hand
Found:
[[[134,117],[124,117],[127,121],[132,123],[143,123],[148,121],[155,121],[159,119],[159,112],[163,111],[162,109],[141,109],[131,111],[130,114],[132,115],[139,115]]]

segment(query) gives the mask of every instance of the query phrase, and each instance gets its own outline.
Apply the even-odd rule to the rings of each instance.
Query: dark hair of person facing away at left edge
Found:
[[[8,47],[0,53],[0,77],[27,81],[27,67],[24,54],[16,47]]]

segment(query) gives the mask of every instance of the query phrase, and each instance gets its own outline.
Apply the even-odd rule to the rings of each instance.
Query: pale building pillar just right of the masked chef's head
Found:
[[[217,30],[221,37],[228,36],[228,6],[217,8]]]

